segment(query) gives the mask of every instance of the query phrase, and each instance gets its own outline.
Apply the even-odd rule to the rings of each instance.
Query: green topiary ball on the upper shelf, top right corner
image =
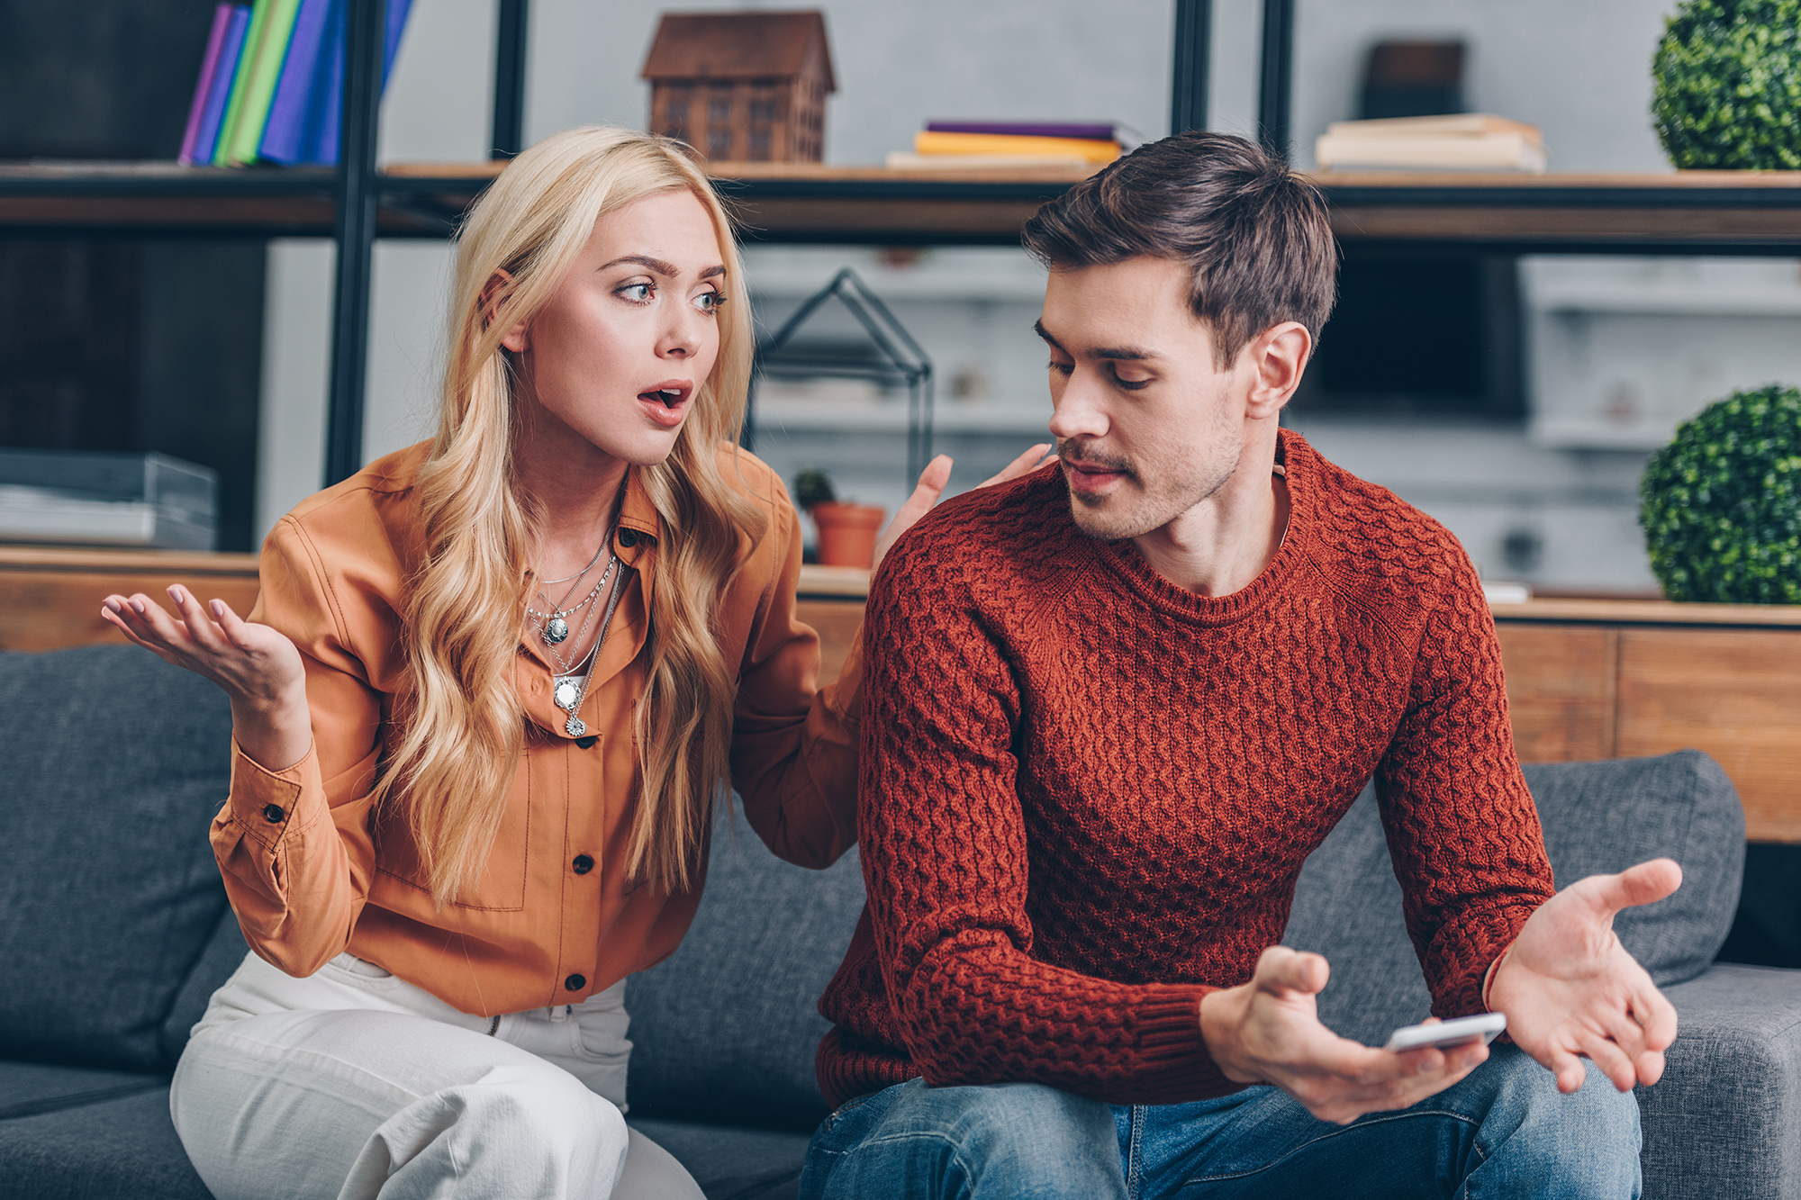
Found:
[[[1652,83],[1679,168],[1801,169],[1801,0],[1682,0]]]

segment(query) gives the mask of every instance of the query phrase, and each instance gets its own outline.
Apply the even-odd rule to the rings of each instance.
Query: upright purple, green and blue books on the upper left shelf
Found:
[[[412,0],[387,0],[382,81]],[[348,0],[220,4],[182,133],[184,166],[324,164],[339,157]]]

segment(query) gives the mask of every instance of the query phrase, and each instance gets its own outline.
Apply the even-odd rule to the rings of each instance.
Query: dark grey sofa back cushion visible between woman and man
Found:
[[[827,1114],[812,1072],[828,1029],[819,995],[861,910],[855,852],[805,870],[742,813],[715,831],[688,937],[627,984],[632,1115],[812,1130]]]

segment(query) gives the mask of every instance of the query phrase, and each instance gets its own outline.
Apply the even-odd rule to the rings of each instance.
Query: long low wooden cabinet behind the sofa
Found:
[[[0,649],[122,641],[110,591],[184,582],[240,613],[256,555],[0,546]],[[801,568],[800,616],[836,679],[868,571]],[[1738,786],[1752,841],[1801,843],[1801,607],[1529,600],[1495,605],[1513,735],[1525,762],[1704,750]]]

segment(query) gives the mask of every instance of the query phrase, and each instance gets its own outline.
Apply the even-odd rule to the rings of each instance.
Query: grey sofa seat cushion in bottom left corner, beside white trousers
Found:
[[[169,1088],[0,1121],[0,1195],[213,1200],[169,1123]]]

